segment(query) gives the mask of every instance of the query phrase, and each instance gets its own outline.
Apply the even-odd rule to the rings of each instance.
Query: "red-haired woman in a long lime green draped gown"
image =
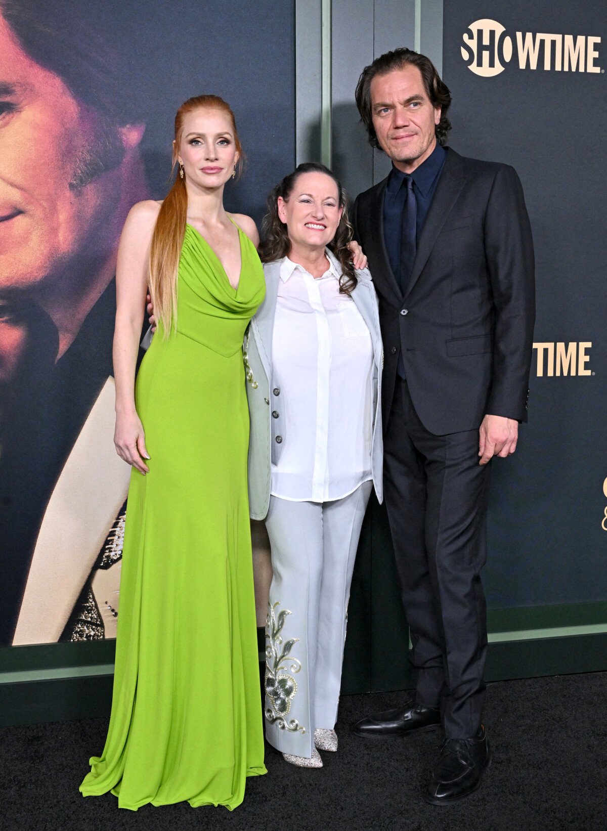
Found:
[[[110,727],[80,789],[132,810],[234,809],[266,772],[242,359],[264,273],[253,220],[223,205],[241,160],[225,101],[185,101],[175,184],[131,209],[118,251],[115,443],[133,470]],[[148,283],[158,332],[135,382]]]

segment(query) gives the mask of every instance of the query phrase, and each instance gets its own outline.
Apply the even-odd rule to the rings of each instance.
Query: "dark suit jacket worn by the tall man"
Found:
[[[379,296],[384,425],[399,347],[417,415],[433,434],[476,430],[486,413],[526,421],[535,280],[516,171],[447,148],[404,297],[383,238],[386,184],[353,207]]]

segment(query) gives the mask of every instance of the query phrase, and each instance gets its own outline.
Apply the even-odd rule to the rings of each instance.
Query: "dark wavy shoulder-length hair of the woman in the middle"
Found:
[[[333,170],[329,170],[324,165],[318,165],[316,162],[304,162],[303,165],[298,165],[293,173],[285,176],[269,194],[268,213],[265,214],[261,226],[264,240],[259,246],[259,258],[262,263],[273,263],[275,260],[289,256],[291,240],[287,226],[279,218],[279,196],[282,196],[285,202],[289,202],[295,183],[304,173],[323,173],[330,176],[337,184],[338,204],[342,209],[342,218],[339,220],[335,236],[328,243],[328,248],[338,259],[342,270],[342,276],[339,278],[339,293],[349,295],[358,282],[352,263],[352,254],[348,248],[348,243],[353,237],[353,228],[348,220],[348,205],[342,184]]]

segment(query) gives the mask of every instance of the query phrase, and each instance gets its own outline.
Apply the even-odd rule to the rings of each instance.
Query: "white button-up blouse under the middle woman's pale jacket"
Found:
[[[272,465],[281,499],[342,499],[372,479],[373,343],[340,274],[314,279],[285,257],[280,266],[272,363],[285,435]]]

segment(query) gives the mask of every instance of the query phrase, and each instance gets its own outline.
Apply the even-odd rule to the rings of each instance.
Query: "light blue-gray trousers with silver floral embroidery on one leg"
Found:
[[[269,743],[283,753],[311,756],[314,729],[335,726],[354,558],[372,487],[363,482],[324,503],[270,497],[264,720]]]

